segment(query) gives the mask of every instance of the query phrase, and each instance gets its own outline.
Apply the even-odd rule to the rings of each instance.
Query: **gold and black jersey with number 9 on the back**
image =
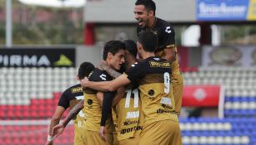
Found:
[[[177,114],[174,114],[170,67],[167,60],[152,56],[134,63],[126,73],[133,84],[138,83],[144,126],[167,119],[178,121]]]

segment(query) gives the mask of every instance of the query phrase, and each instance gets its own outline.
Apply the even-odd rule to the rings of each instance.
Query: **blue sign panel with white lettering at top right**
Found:
[[[246,21],[248,0],[198,0],[198,21]]]

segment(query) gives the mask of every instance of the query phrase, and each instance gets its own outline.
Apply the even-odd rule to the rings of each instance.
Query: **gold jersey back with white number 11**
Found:
[[[128,89],[118,104],[113,106],[118,140],[138,136],[143,128],[143,114],[138,89]]]

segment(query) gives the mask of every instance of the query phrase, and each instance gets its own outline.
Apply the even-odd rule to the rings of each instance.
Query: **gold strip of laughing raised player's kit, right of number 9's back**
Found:
[[[182,95],[183,95],[183,75],[179,71],[173,72],[171,80],[173,85],[175,112],[177,114],[180,114],[180,110],[182,106]]]

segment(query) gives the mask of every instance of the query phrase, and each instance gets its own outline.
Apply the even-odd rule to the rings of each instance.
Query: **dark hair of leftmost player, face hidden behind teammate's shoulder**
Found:
[[[94,70],[94,65],[90,62],[83,62],[78,68],[78,78],[82,80],[85,76],[88,75]]]

